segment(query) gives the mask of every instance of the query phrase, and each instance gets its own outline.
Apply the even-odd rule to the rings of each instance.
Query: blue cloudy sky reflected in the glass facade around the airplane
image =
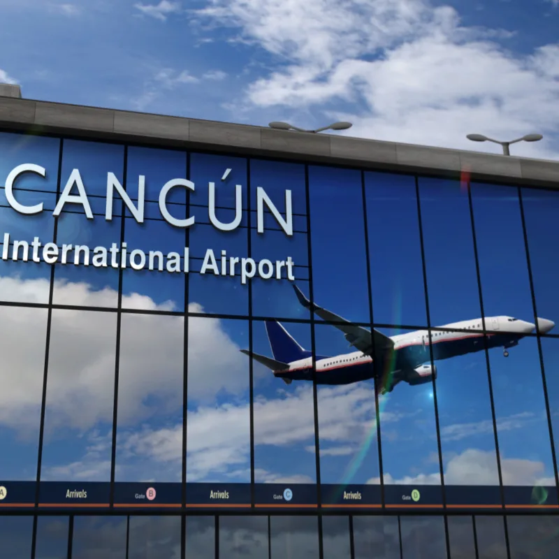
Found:
[[[38,217],[17,215],[1,208],[3,231],[13,239],[39,235],[52,239],[52,177],[57,176],[57,140],[2,134],[0,143],[12,146],[0,159],[0,180],[22,161],[47,168],[47,177],[27,178],[17,198],[44,201]],[[147,202],[157,199],[162,184],[185,176],[186,154],[180,151],[129,150],[126,189],[134,198],[138,175],[145,176]],[[64,141],[61,180],[80,168],[94,210],[87,220],[79,206],[67,205],[57,227],[57,242],[110,245],[122,230],[122,211],[115,202],[112,222],[104,219],[101,194],[108,171],[122,179],[123,148]],[[231,180],[219,181],[225,168]],[[375,322],[387,335],[428,325],[423,291],[418,199],[413,177],[365,173],[367,223],[363,216],[361,175],[353,169],[312,166],[309,169],[309,208],[304,167],[242,158],[192,154],[191,178],[196,192],[189,229],[192,260],[205,248],[224,248],[231,256],[251,250],[257,258],[296,263],[296,282],[310,293],[307,211],[310,212],[313,293],[317,303],[342,317],[369,326],[369,289]],[[120,173],[120,174],[119,174]],[[106,180],[106,179],[105,179]],[[218,182],[219,217],[231,219],[233,186],[241,184],[243,199],[254,201],[262,186],[277,207],[284,208],[289,187],[298,214],[293,238],[286,240],[268,215],[259,235],[247,227],[217,233],[208,225],[206,185]],[[19,183],[18,183],[19,186]],[[428,310],[433,326],[481,316],[479,286],[467,191],[459,182],[419,179],[419,208],[426,255]],[[343,192],[343,196],[340,196]],[[28,196],[25,198],[24,196]],[[97,197],[96,197],[97,196]],[[173,215],[186,215],[177,190]],[[481,294],[486,316],[507,315],[534,321],[527,256],[518,189],[472,184]],[[539,317],[559,321],[556,284],[559,268],[553,259],[553,192],[521,192],[528,247]],[[251,208],[254,203],[251,202]],[[247,205],[244,204],[245,212]],[[181,251],[187,240],[182,229],[169,226],[158,210],[146,210],[140,225],[126,212],[124,237],[129,250]],[[254,212],[250,217],[254,225]],[[199,222],[198,222],[199,217]],[[246,217],[248,221],[248,217]],[[246,222],[242,222],[246,223]],[[3,232],[2,231],[2,232]],[[211,233],[210,233],[211,231]],[[368,245],[365,244],[365,233]],[[17,236],[16,236],[17,235]],[[370,261],[370,285],[366,263]],[[199,251],[199,253],[197,252]],[[250,481],[249,361],[239,349],[249,347],[249,303],[253,316],[253,351],[270,355],[263,320],[281,319],[306,349],[312,348],[309,315],[296,299],[291,282],[259,280],[249,289],[237,277],[212,277],[194,272],[188,290],[184,275],[125,270],[122,307],[136,310],[122,317],[117,414],[117,481],[180,481],[182,460],[183,356],[188,351],[187,479],[188,481]],[[50,270],[44,264],[3,262],[1,298],[6,301],[48,301]],[[116,314],[80,307],[115,308],[118,303],[115,270],[61,266],[55,268],[53,300],[76,310],[52,313],[50,336],[43,479],[108,481],[112,437]],[[188,321],[187,308],[200,316]],[[167,314],[145,314],[161,310]],[[139,314],[138,314],[139,312]],[[175,314],[173,314],[173,312]],[[226,314],[226,318],[203,316]],[[3,476],[34,479],[36,442],[43,382],[47,313],[42,308],[0,307],[3,328],[3,391],[0,395],[0,461]],[[293,322],[294,319],[299,320]],[[3,325],[3,326],[1,326]],[[31,341],[33,340],[33,341]],[[318,354],[349,351],[336,328],[317,324]],[[559,338],[542,342],[551,409],[559,404]],[[502,475],[505,484],[554,484],[551,445],[544,414],[544,391],[537,340],[528,337],[510,350],[489,351]],[[10,372],[17,371],[17,375]],[[437,405],[442,439],[442,463],[449,485],[491,485],[498,480],[495,436],[491,416],[486,360],[483,353],[438,364]],[[439,484],[433,387],[398,385],[381,398],[381,435],[384,476],[396,484]],[[349,386],[320,386],[318,390],[321,481],[377,483],[379,449],[375,426],[374,392],[370,382]],[[559,428],[556,414],[553,428]],[[316,481],[312,386],[286,386],[270,371],[254,364],[255,479],[298,484]],[[522,440],[519,445],[518,441]]]

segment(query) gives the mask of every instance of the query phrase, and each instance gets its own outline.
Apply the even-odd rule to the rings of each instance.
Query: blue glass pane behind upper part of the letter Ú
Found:
[[[231,171],[222,180],[227,169]],[[190,204],[196,206],[191,208],[191,215],[208,213],[210,182],[215,184],[217,208],[235,208],[237,184],[242,187],[242,208],[247,208],[247,160],[244,157],[191,153],[190,180],[196,185],[196,190],[190,193]]]

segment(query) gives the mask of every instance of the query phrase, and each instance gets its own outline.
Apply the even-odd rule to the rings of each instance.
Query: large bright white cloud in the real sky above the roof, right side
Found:
[[[354,122],[351,136],[495,151],[472,131],[557,136],[559,45],[531,55],[504,48],[511,33],[463,27],[456,10],[427,0],[212,0],[198,12],[240,30],[278,64],[249,84],[252,110]],[[271,67],[271,66],[270,66]],[[305,122],[301,123],[303,126]],[[553,157],[551,142],[515,153]]]

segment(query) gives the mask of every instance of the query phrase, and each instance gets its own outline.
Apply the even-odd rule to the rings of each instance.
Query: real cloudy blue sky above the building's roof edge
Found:
[[[556,159],[557,0],[0,0],[29,99]]]

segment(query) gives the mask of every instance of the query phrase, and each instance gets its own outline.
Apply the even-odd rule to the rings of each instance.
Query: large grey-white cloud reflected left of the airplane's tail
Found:
[[[42,300],[44,279],[0,278],[5,300]],[[56,282],[59,303],[106,306],[111,289],[92,291],[89,285]],[[17,293],[19,296],[17,296]],[[147,298],[149,299],[149,298]],[[123,297],[131,309],[169,310],[172,303],[146,304],[133,293]],[[200,305],[191,310],[201,312]],[[1,307],[1,348],[4,374],[0,392],[0,423],[34,430],[41,405],[47,312],[33,307]],[[52,313],[48,375],[48,429],[61,426],[87,430],[112,421],[115,375],[116,314],[55,310]],[[24,345],[22,345],[24,344]],[[148,419],[161,409],[182,406],[182,317],[128,314],[122,319],[119,362],[119,423]],[[204,402],[219,391],[238,394],[247,389],[247,363],[239,347],[224,333],[219,319],[193,317],[189,328],[189,398]],[[219,347],[219,351],[215,351]],[[227,368],[228,374],[223,370]],[[8,374],[10,372],[10,374]],[[15,374],[14,374],[15,372]],[[149,398],[148,398],[149,397]]]

